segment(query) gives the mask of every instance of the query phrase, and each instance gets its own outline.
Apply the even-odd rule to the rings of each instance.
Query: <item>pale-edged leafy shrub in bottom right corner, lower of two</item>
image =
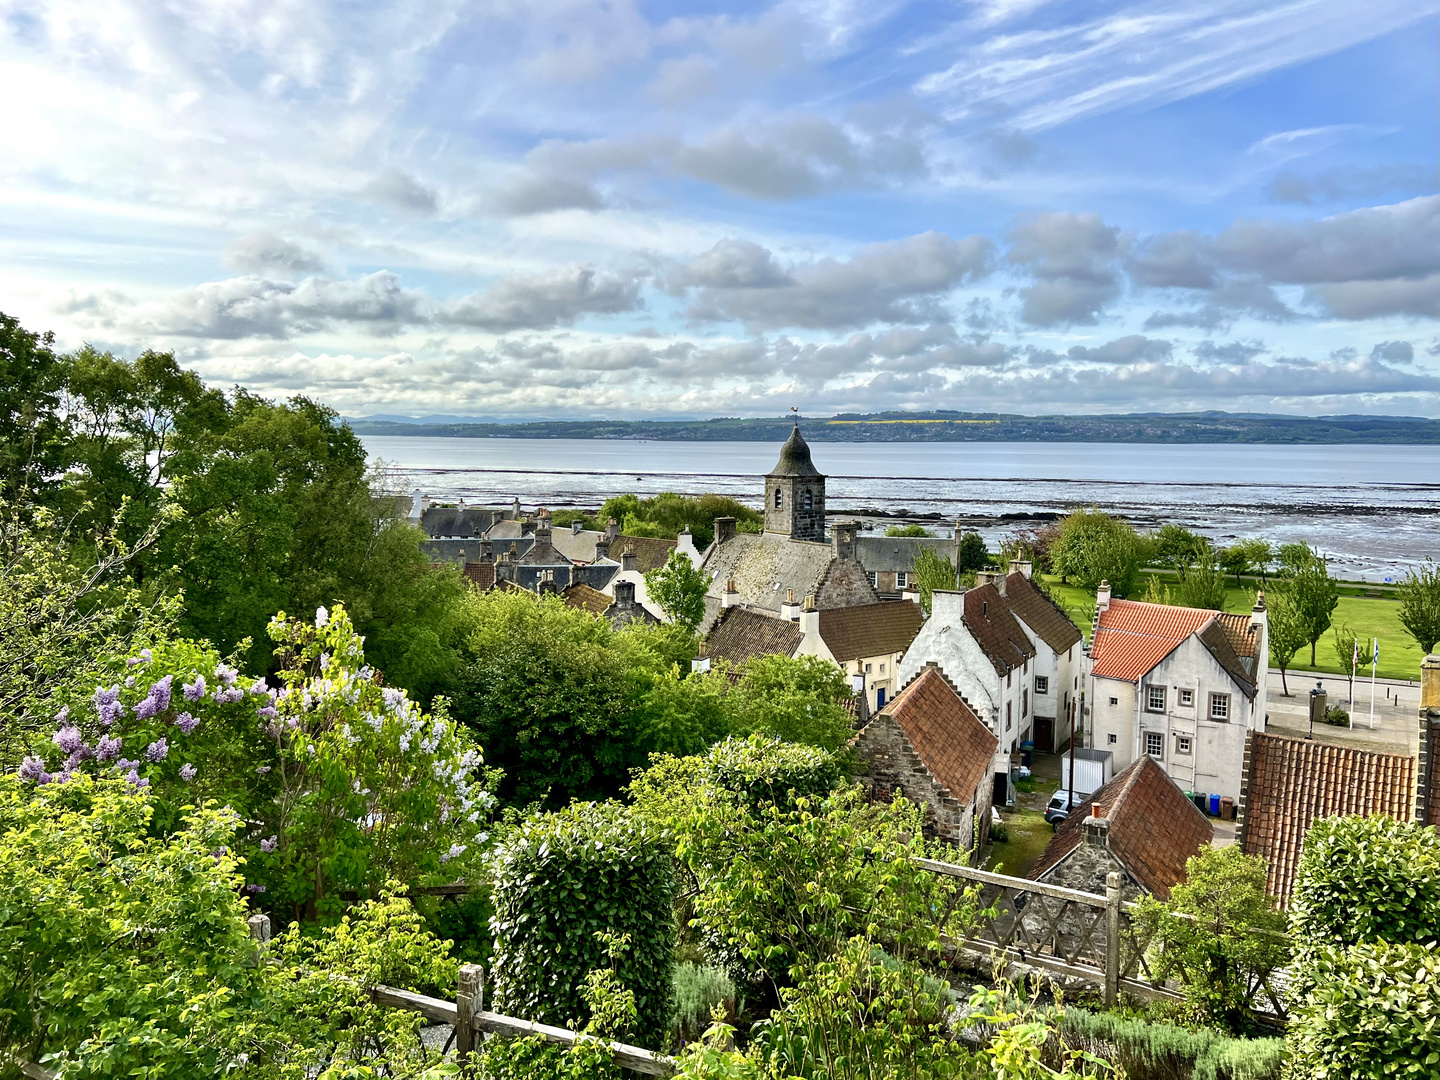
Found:
[[[1440,950],[1368,943],[1309,958],[1290,1015],[1295,1080],[1440,1076]]]

